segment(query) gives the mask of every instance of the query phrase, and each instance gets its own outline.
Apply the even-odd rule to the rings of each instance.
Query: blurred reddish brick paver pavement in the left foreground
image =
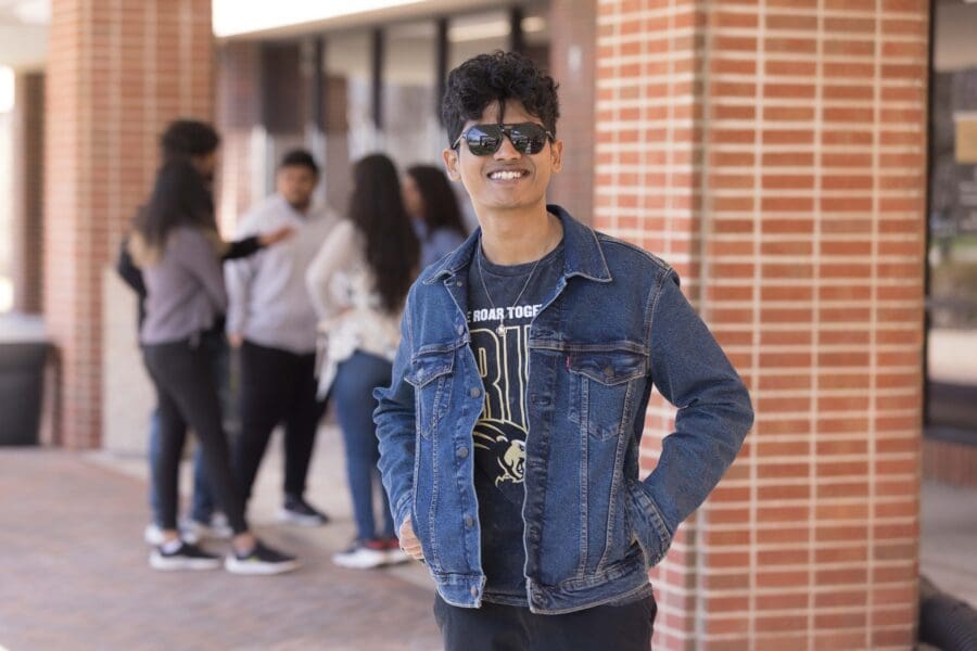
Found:
[[[167,574],[147,564],[145,520],[139,478],[72,452],[0,449],[0,648],[440,648],[433,590],[337,567],[307,529],[256,527],[301,557],[291,575]]]

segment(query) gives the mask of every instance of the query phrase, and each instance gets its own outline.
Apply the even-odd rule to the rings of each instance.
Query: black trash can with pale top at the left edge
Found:
[[[39,319],[0,319],[0,446],[38,444],[48,349]]]

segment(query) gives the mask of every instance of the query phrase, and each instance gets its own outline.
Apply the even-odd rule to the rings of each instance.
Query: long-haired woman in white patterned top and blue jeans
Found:
[[[330,394],[343,431],[356,539],[333,556],[344,567],[378,567],[407,557],[399,549],[386,495],[383,522],[373,518],[380,452],[373,431],[373,388],[390,382],[407,290],[420,246],[404,208],[397,170],[382,154],[353,168],[346,218],[333,227],[306,281],[326,337],[319,394]]]

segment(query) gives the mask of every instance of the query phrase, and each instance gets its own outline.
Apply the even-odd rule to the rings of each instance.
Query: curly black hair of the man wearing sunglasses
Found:
[[[496,50],[469,59],[448,74],[441,116],[447,128],[448,146],[461,135],[465,123],[479,119],[485,107],[498,102],[499,119],[506,100],[522,102],[530,115],[556,136],[560,116],[559,85],[524,54]]]

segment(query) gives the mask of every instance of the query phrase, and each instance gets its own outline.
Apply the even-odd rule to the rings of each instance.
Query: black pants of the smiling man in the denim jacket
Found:
[[[458,608],[434,598],[445,651],[648,651],[657,612],[650,595],[564,615],[485,601],[479,609]]]

